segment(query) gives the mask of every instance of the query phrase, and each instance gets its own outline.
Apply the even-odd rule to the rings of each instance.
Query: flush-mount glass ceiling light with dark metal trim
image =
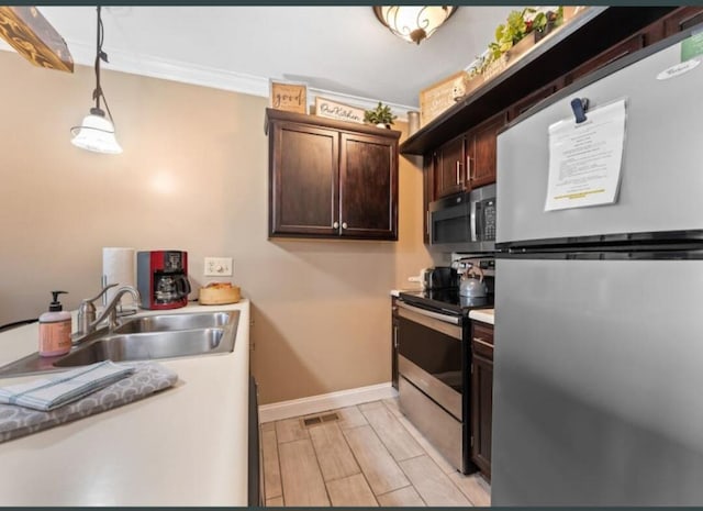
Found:
[[[429,37],[456,12],[453,5],[373,5],[376,18],[410,43]]]

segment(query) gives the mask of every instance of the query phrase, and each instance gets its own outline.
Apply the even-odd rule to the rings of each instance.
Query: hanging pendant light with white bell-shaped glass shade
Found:
[[[100,18],[100,5],[98,5],[98,42],[96,53],[96,89],[92,91],[92,99],[96,100],[96,107],[90,109],[90,113],[83,118],[80,126],[70,129],[74,137],[71,144],[82,149],[92,151],[104,154],[120,154],[122,147],[114,137],[114,123],[112,113],[108,107],[108,100],[100,87],[100,60],[108,62],[108,54],[102,51],[102,40],[104,31],[102,19]],[[100,108],[100,98],[105,103],[105,112]]]

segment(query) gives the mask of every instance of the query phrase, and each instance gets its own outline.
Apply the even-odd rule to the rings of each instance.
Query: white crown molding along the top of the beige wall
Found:
[[[90,67],[93,66],[94,46],[68,41],[67,44],[70,48],[75,64]],[[9,45],[5,45],[5,47],[0,46],[0,49],[14,52],[14,49]],[[261,98],[269,97],[269,77],[234,73],[215,67],[201,66],[198,64],[166,59],[145,54],[120,52],[115,49],[110,51],[108,55],[110,62],[107,65],[102,65],[102,68],[107,70],[180,81],[183,84],[230,90]],[[271,77],[271,79],[278,80],[279,78]],[[280,80],[283,82],[287,81],[284,79]],[[376,108],[379,101],[378,99],[361,98],[358,96],[335,92],[333,90],[308,87],[309,104],[314,104],[316,96],[324,96],[333,101],[339,101],[345,104],[364,108],[366,110]],[[393,113],[398,115],[398,120],[402,122],[408,121],[408,111],[419,110],[416,105],[399,104],[388,101],[383,101],[383,103],[388,104]]]

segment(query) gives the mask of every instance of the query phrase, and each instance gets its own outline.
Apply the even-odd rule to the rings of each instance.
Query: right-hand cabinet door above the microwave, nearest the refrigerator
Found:
[[[492,116],[471,130],[467,155],[469,188],[495,182],[495,155],[498,131],[505,125],[505,112]]]

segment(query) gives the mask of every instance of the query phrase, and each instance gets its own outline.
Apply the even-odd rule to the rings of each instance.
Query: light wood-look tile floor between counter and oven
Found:
[[[397,399],[333,411],[339,420],[261,424],[266,506],[491,504],[489,484],[456,471],[403,416]]]

